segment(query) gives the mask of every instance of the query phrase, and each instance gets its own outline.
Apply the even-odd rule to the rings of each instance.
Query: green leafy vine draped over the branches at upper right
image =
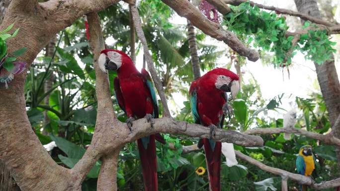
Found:
[[[257,6],[251,6],[250,2],[232,6],[233,12],[225,15],[224,23],[228,29],[235,32],[247,44],[254,44],[260,51],[273,52],[273,64],[281,66],[284,63],[291,64],[295,55],[287,54],[289,50],[299,50],[305,54],[305,58],[318,64],[332,58],[335,42],[329,40],[327,31],[315,24],[305,22],[306,33],[302,34],[298,44],[292,47],[294,36],[287,35],[287,23],[283,16],[277,16],[274,12],[260,10]]]

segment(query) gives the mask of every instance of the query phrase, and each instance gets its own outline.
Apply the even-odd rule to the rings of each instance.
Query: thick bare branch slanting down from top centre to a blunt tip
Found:
[[[205,34],[224,41],[230,48],[241,56],[245,56],[250,61],[257,61],[259,54],[255,50],[247,48],[237,36],[227,30],[224,30],[221,25],[210,21],[188,0],[162,0],[168,4],[179,16],[183,16],[190,20],[192,25],[201,29]]]

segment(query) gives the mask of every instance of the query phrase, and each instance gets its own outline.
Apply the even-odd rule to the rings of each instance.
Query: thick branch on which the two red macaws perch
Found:
[[[98,121],[98,120],[97,120]],[[99,124],[96,124],[96,127]],[[108,125],[105,127],[109,127]],[[118,129],[118,130],[116,130]],[[187,122],[176,121],[172,118],[153,119],[153,126],[146,119],[142,118],[133,122],[131,131],[127,130],[125,123],[118,122],[112,128],[104,128],[102,131],[96,131],[93,134],[90,147],[86,150],[84,157],[72,169],[73,174],[79,173],[85,178],[85,175],[93,167],[99,156],[103,156],[116,150],[119,150],[125,143],[133,142],[139,138],[159,132],[170,134],[184,134],[191,137],[210,138],[210,129],[198,124],[189,124]],[[115,137],[115,138],[112,138]],[[217,129],[215,141],[231,142],[242,146],[263,146],[263,139],[259,136],[246,135],[234,130]],[[186,150],[190,152],[192,148]],[[86,169],[86,170],[82,170]]]

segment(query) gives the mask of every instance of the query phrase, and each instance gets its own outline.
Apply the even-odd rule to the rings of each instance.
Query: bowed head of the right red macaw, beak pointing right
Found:
[[[225,68],[215,68],[210,70],[206,75],[210,75],[214,80],[217,89],[225,92],[231,92],[233,99],[239,93],[239,76]]]

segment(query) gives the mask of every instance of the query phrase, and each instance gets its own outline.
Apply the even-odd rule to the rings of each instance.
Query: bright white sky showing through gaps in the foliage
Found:
[[[273,5],[280,8],[287,8],[287,9],[293,9],[296,10],[296,6],[294,4],[293,0],[254,0],[255,2],[266,4],[266,5]],[[340,3],[340,0],[333,0],[333,3]],[[340,22],[340,6],[337,10],[337,20]],[[289,22],[289,18],[287,19]],[[175,24],[183,24],[186,25],[186,19],[178,16],[175,14],[171,20],[171,22]],[[296,22],[296,21],[295,21]],[[289,23],[288,23],[289,25]],[[198,30],[198,29],[196,29]],[[107,39],[107,44],[112,44],[113,39]],[[338,49],[338,55],[340,52],[340,35],[337,35],[333,38],[333,41],[338,42],[337,45]],[[218,45],[220,50],[227,50],[228,47],[223,42],[217,41],[212,38],[207,38],[206,44],[214,44]],[[340,58],[339,56],[336,58],[336,67],[337,70],[340,71]],[[141,69],[142,68],[142,62],[143,62],[143,53],[140,53],[137,55],[136,58],[136,66]],[[218,61],[218,65],[224,65],[229,62],[229,58],[222,57]],[[235,68],[232,67],[231,70],[236,72]],[[247,84],[249,82],[249,79],[252,78],[251,73],[254,75],[257,82],[260,84],[262,96],[266,100],[272,99],[274,96],[278,94],[285,93],[287,96],[290,94],[293,94],[290,98],[285,98],[283,100],[283,108],[286,110],[291,109],[291,104],[295,102],[295,96],[299,97],[308,97],[312,92],[320,91],[320,87],[317,83],[317,76],[315,66],[311,61],[306,61],[304,59],[304,56],[302,54],[297,54],[293,58],[293,64],[289,67],[290,71],[290,79],[288,78],[288,72],[286,68],[283,71],[282,75],[282,69],[278,68],[275,69],[273,65],[263,65],[260,60],[257,62],[250,62],[247,61],[246,66],[242,67],[242,71],[244,73],[244,83]],[[251,73],[250,73],[251,72]],[[203,74],[203,72],[201,72]],[[338,72],[339,73],[339,72]],[[339,75],[339,74],[338,74]],[[284,77],[283,77],[284,76]],[[189,87],[188,87],[189,88]],[[183,101],[185,101],[185,97],[182,96],[180,93],[174,93],[173,94],[174,99],[176,100],[175,103],[169,102],[168,104],[170,107],[170,110],[172,112],[179,112],[180,108],[184,107],[182,104]],[[280,111],[283,112],[283,111]],[[271,112],[271,117],[282,117],[283,113],[274,113]]]

